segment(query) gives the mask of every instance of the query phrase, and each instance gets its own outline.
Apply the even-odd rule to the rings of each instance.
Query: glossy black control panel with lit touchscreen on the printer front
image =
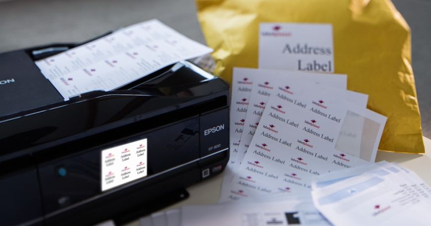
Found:
[[[129,144],[137,146],[134,150],[131,147],[122,148]],[[140,144],[146,146],[145,151],[139,148]],[[138,184],[150,184],[162,173],[197,161],[199,150],[199,116],[194,116],[46,163],[39,167],[45,212],[52,213],[96,196],[103,198],[124,188],[139,187]],[[113,156],[110,159],[115,158],[114,164],[103,159],[109,154]],[[105,166],[102,167],[102,164]],[[115,164],[118,166],[112,167]],[[143,173],[144,169],[146,176],[138,176],[137,173]],[[103,183],[114,183],[115,186]],[[145,192],[143,195],[146,195]]]

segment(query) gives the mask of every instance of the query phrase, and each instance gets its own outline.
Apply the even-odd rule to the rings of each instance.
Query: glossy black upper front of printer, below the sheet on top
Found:
[[[196,65],[180,61],[124,90],[93,91],[68,101],[0,117],[0,160],[145,120],[225,92],[228,84]]]

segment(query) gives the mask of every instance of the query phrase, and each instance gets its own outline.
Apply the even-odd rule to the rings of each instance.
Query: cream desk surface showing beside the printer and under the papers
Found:
[[[377,153],[376,162],[388,161],[396,162],[400,165],[414,171],[422,178],[427,184],[431,185],[431,139],[424,137],[425,142],[425,155],[418,154],[400,154],[379,151]],[[221,190],[221,182],[223,176],[219,175],[211,180],[196,184],[187,188],[190,197],[182,202],[176,203],[172,206],[162,210],[175,209],[183,205],[200,205],[200,204],[214,204],[218,201]],[[139,221],[134,221],[127,226],[139,226]]]

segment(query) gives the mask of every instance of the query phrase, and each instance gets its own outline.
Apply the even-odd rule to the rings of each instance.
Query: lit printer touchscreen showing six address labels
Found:
[[[147,138],[102,150],[102,191],[147,176]]]

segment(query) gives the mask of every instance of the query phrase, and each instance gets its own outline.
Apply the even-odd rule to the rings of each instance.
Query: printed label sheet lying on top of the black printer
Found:
[[[35,63],[67,100],[89,91],[114,90],[167,65],[212,51],[158,20],[150,20]]]

